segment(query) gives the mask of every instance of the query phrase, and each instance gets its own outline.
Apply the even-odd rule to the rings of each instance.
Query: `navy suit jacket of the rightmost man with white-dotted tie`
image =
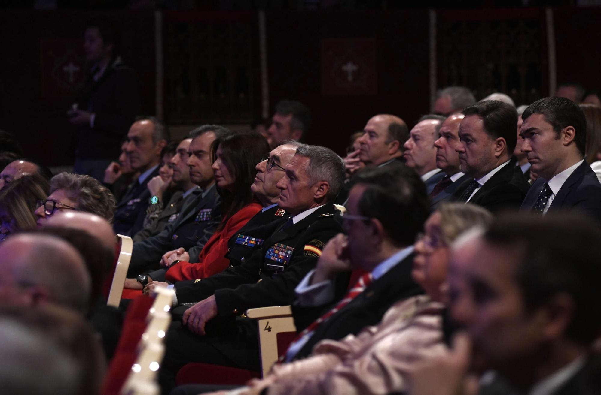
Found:
[[[526,194],[521,210],[532,211],[543,190],[545,179],[538,178]],[[601,184],[591,166],[584,161],[570,174],[555,195],[547,213],[577,210],[601,222]]]

